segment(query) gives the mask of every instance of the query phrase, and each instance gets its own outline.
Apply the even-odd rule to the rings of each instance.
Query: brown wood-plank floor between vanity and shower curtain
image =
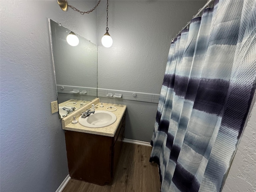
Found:
[[[112,183],[99,186],[70,179],[62,192],[160,192],[158,166],[151,164],[152,148],[123,143]]]

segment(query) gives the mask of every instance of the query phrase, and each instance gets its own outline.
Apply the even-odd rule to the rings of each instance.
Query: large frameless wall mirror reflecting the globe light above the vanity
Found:
[[[78,45],[71,46],[66,38],[72,30],[51,19],[49,28],[59,114],[63,118],[97,97],[98,48],[78,34]]]

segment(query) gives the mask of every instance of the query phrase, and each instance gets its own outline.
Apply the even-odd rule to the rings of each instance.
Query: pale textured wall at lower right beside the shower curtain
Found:
[[[254,95],[254,97],[256,94]],[[256,104],[244,130],[223,192],[256,191]]]

